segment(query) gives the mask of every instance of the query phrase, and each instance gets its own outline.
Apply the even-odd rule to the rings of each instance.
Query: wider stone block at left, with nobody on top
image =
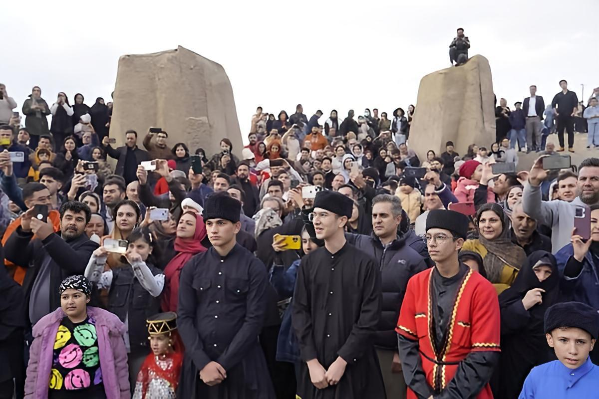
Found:
[[[150,126],[162,127],[168,143],[201,147],[208,157],[229,138],[241,156],[243,141],[231,82],[223,67],[179,46],[153,54],[119,58],[110,136],[123,145],[125,131],[138,133],[138,145]]]

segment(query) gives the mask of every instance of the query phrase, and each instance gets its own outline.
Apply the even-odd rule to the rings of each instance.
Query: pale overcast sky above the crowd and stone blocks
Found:
[[[17,6],[17,4],[15,4]],[[21,8],[19,6],[19,8]],[[470,56],[489,59],[497,98],[513,108],[536,84],[548,102],[558,81],[585,101],[599,86],[598,0],[30,1],[2,19],[0,82],[19,107],[32,86],[49,104],[110,100],[123,54],[189,48],[225,68],[246,139],[256,106],[310,115],[353,108],[389,114],[416,102],[420,78],[449,66],[458,26]],[[35,12],[34,12],[35,11]],[[442,93],[439,93],[442,95]],[[143,106],[143,99],[140,99]]]

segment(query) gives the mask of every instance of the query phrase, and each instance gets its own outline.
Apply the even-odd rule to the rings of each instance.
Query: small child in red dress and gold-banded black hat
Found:
[[[183,343],[177,334],[177,313],[147,319],[150,348],[135,382],[133,399],[174,399],[183,364]]]

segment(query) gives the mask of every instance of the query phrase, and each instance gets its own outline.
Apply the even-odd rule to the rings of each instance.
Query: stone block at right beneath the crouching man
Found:
[[[491,68],[483,56],[476,55],[464,65],[432,72],[420,80],[410,148],[424,160],[428,150],[437,155],[445,151],[447,141],[453,141],[460,155],[470,144],[489,148],[495,141]]]

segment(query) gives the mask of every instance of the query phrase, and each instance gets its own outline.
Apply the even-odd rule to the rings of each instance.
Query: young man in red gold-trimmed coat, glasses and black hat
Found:
[[[500,358],[495,288],[458,260],[468,219],[434,209],[424,239],[435,265],[410,279],[395,331],[409,399],[493,397]]]

